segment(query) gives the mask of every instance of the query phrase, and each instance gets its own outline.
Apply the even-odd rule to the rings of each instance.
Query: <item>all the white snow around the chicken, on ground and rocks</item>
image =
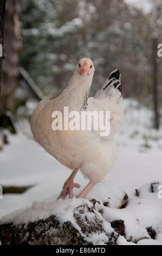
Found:
[[[139,108],[136,101],[130,100],[125,100],[125,105],[124,125],[115,137],[119,146],[118,160],[112,172],[89,193],[88,198],[96,198],[102,203],[109,202],[109,208],[102,206],[103,217],[107,221],[124,220],[127,240],[131,236],[137,241],[141,237],[148,237],[138,244],[162,245],[162,199],[158,198],[158,192],[151,193],[150,188],[151,182],[159,181],[161,184],[160,180],[162,180],[161,130],[157,132],[151,129],[152,113],[147,108]],[[14,223],[29,222],[46,218],[51,214],[59,216],[62,221],[73,221],[74,208],[89,201],[74,198],[56,202],[70,170],[33,140],[27,123],[21,123],[22,130],[23,132],[19,132],[18,135],[9,135],[10,144],[0,153],[1,185],[34,186],[23,194],[4,194],[0,199],[0,217],[11,211],[23,209],[3,217],[1,223],[11,220]],[[79,173],[76,182],[81,184],[81,188],[79,190],[75,188],[75,196],[88,181]],[[137,197],[135,188],[139,187],[139,197]],[[127,208],[115,209],[118,208],[124,192],[129,196]],[[146,228],[151,226],[158,230],[156,240],[152,240],[146,232]],[[93,235],[96,241],[96,235]],[[100,235],[104,236],[104,234]],[[131,245],[132,242],[127,242],[126,239],[120,236],[118,244]]]

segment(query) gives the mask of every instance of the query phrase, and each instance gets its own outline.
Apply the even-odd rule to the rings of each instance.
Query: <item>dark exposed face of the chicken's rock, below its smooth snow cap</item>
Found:
[[[0,225],[2,245],[115,245],[119,234],[93,204],[74,209],[74,220],[61,223],[52,215],[37,222]],[[96,238],[96,234],[98,237]]]

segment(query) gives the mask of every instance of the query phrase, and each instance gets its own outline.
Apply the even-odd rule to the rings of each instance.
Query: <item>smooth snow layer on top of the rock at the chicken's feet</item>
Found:
[[[1,224],[14,223],[22,224],[29,223],[38,220],[46,220],[51,215],[55,215],[59,220],[63,222],[73,222],[73,211],[77,206],[83,203],[90,204],[89,200],[86,199],[67,199],[67,200],[56,200],[55,197],[50,197],[44,201],[33,202],[31,206],[27,206],[20,210],[11,212],[11,214],[5,215],[1,219]],[[91,204],[90,204],[91,205]]]

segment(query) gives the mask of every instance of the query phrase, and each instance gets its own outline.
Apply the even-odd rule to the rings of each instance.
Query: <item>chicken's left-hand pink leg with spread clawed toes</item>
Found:
[[[72,174],[70,174],[69,178],[64,182],[63,189],[60,193],[60,196],[57,198],[58,199],[65,199],[67,194],[69,195],[69,198],[73,198],[73,188],[77,187],[80,188],[80,185],[78,183],[74,183],[74,178],[77,173],[78,169],[74,169]]]

